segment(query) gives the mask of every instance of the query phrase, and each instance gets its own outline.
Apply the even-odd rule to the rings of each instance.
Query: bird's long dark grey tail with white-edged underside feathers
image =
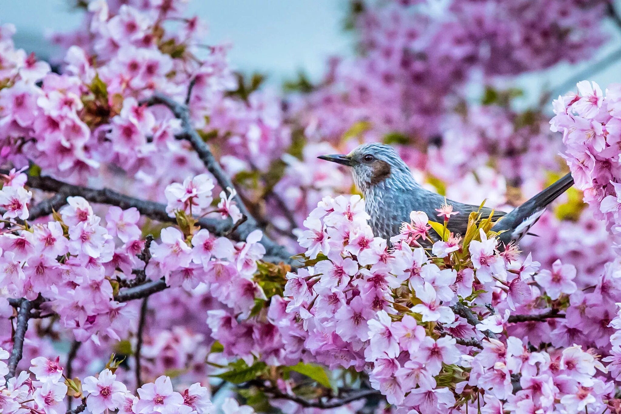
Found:
[[[500,238],[505,243],[508,243],[510,240],[520,240],[528,232],[528,229],[537,222],[545,208],[567,191],[569,187],[573,186],[573,184],[574,179],[571,177],[571,174],[558,179],[550,187],[546,187],[539,194],[502,217],[492,230],[504,230]]]

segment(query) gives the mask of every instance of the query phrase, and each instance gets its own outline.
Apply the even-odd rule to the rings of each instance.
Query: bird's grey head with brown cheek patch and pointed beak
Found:
[[[380,143],[360,145],[348,155],[320,155],[317,158],[351,167],[354,181],[363,191],[390,178],[412,179],[410,169],[392,146]]]

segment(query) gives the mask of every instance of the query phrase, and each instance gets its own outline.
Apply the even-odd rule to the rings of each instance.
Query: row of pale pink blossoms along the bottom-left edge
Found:
[[[93,414],[118,410],[119,413],[170,413],[211,414],[214,406],[209,399],[209,390],[198,382],[183,392],[173,390],[170,377],[160,376],[154,382],[142,385],[133,394],[125,384],[117,380],[116,366],[106,367],[96,376],[75,382],[65,376],[58,359],[43,357],[30,361],[30,369],[22,371],[4,383],[8,372],[6,363],[9,354],[0,348],[0,408],[3,413],[36,412],[63,414],[66,412],[66,395],[83,398],[82,403]],[[32,378],[34,375],[34,378]],[[79,401],[79,400],[78,400]],[[254,410],[241,406],[227,398],[221,407],[225,414],[252,414]]]

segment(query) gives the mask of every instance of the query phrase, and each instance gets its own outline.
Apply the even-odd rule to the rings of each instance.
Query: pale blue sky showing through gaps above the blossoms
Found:
[[[5,0],[0,22],[17,26],[18,47],[45,56],[50,53],[50,47],[43,34],[47,30],[69,30],[81,20],[79,12],[71,11],[69,3],[67,0]],[[319,79],[328,56],[351,53],[351,39],[342,30],[346,7],[346,0],[191,0],[189,14],[198,14],[209,24],[211,30],[206,42],[233,43],[230,61],[235,68],[267,73],[270,83],[278,85],[299,69],[309,73],[311,79]],[[533,104],[543,88],[562,84],[621,47],[621,29],[610,22],[605,24],[613,41],[594,60],[580,65],[564,63],[521,76],[517,83],[527,92],[524,104]],[[621,60],[587,78],[604,87],[620,82],[619,73]],[[471,88],[472,96],[480,96],[476,84]]]

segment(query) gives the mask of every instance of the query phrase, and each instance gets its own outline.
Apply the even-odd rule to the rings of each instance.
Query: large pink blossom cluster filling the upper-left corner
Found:
[[[192,81],[194,127],[217,138],[231,171],[265,170],[289,142],[278,98],[261,91],[230,96],[237,82],[227,47],[206,47],[204,22],[184,18],[184,7],[183,1],[89,2],[83,29],[55,36],[66,45],[61,74],[14,48],[14,27],[4,25],[2,161],[34,162],[76,181],[101,179],[107,166],[117,166],[138,180],[137,189],[159,195],[170,182],[198,174],[201,163],[175,139],[179,120],[141,99],[158,92],[183,100]]]

